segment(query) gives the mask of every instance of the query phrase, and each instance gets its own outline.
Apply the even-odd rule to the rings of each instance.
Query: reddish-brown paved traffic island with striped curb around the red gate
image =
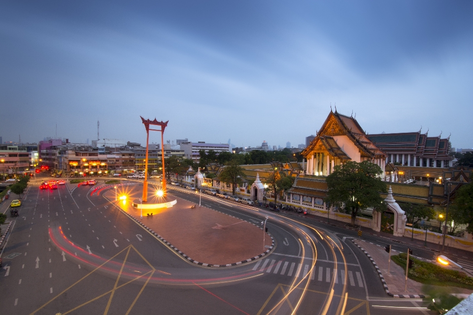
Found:
[[[140,197],[142,185],[127,187],[126,200]],[[151,190],[151,189],[150,189]],[[152,195],[148,191],[148,195]],[[115,191],[104,197],[159,237],[172,250],[190,262],[208,267],[229,267],[250,262],[268,254],[274,240],[259,225],[175,197],[171,207],[138,209],[132,202],[115,201]],[[148,199],[149,200],[149,199]]]

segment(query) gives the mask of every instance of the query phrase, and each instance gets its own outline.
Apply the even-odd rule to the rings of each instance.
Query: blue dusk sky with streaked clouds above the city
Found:
[[[472,1],[0,1],[0,136],[293,147],[331,106],[473,147]],[[57,126],[57,131],[56,131]],[[150,142],[159,142],[158,132]]]

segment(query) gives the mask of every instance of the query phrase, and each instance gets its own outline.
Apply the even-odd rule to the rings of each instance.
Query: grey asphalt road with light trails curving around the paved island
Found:
[[[345,293],[345,314],[430,314],[415,309],[420,300],[386,295],[352,231],[203,195],[203,205],[237,218],[268,216],[275,239],[254,262],[205,268],[89,187],[37,184],[2,253],[1,314],[339,314]],[[169,193],[199,203],[186,189]]]

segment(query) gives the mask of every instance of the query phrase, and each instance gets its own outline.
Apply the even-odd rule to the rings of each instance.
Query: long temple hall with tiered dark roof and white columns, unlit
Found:
[[[450,139],[440,136],[428,137],[427,133],[380,133],[368,138],[386,155],[386,163],[413,167],[452,166],[453,157],[448,156]]]

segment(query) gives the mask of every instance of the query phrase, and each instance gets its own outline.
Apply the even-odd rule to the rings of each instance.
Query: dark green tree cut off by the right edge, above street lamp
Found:
[[[451,212],[451,217],[450,217]],[[473,232],[473,183],[458,189],[455,198],[448,209],[447,220],[458,220],[458,223],[468,224],[467,231]]]

